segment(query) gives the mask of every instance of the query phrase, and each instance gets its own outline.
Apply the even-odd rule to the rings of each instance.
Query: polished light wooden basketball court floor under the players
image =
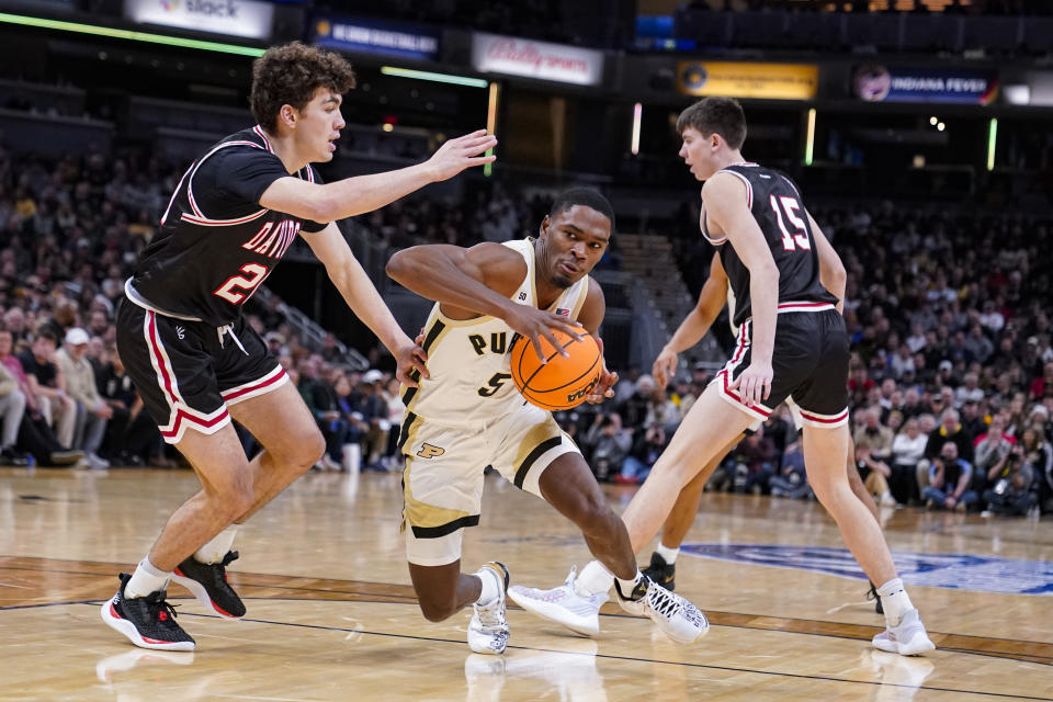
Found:
[[[189,471],[0,469],[0,699],[1053,700],[1049,520],[890,512],[897,564],[917,554],[903,556],[910,577],[956,586],[905,575],[939,649],[903,658],[871,648],[883,619],[865,580],[831,573],[843,545],[818,505],[707,495],[688,543],[717,557],[677,562],[677,591],[712,623],[698,644],[610,603],[596,639],[510,609],[496,657],[467,648],[467,613],[431,624],[417,610],[397,475],[310,474],[239,532],[245,620],[171,586],[199,649],[136,648],[99,605],[195,486]],[[619,510],[631,494],[610,490]],[[540,587],[588,561],[571,524],[499,479],[464,555],[466,569],[499,559]]]

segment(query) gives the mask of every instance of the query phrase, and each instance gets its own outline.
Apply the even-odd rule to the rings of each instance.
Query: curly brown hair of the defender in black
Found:
[[[282,105],[303,110],[318,88],[338,94],[354,88],[351,64],[335,52],[299,42],[272,46],[252,63],[252,116],[264,129],[273,132]]]

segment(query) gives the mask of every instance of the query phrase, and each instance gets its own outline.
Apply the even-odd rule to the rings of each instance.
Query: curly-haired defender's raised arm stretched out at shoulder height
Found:
[[[482,156],[497,145],[486,129],[450,139],[423,163],[370,176],[355,176],[332,183],[308,183],[299,178],[279,178],[263,191],[260,205],[313,222],[335,222],[373,212],[420,190],[429,183],[453,178],[473,166],[491,162]]]

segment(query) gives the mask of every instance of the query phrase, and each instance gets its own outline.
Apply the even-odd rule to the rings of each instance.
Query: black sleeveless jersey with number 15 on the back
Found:
[[[777,170],[757,163],[734,163],[721,171],[732,173],[746,183],[749,210],[768,240],[771,257],[779,269],[780,308],[825,306],[837,303],[819,282],[819,254],[808,216],[801,202],[801,193],[792,180]],[[727,237],[714,239],[702,215],[702,234],[706,240],[718,246],[721,263],[727,272],[727,281],[735,295],[736,327],[752,316],[749,302],[749,269],[735,249],[727,245]]]

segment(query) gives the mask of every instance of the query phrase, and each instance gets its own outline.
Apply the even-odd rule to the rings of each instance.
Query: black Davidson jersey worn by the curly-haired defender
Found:
[[[259,126],[224,138],[183,173],[161,227],[125,285],[158,313],[223,326],[278,265],[301,231],[326,225],[260,206],[288,171]],[[320,183],[306,166],[296,177]]]

